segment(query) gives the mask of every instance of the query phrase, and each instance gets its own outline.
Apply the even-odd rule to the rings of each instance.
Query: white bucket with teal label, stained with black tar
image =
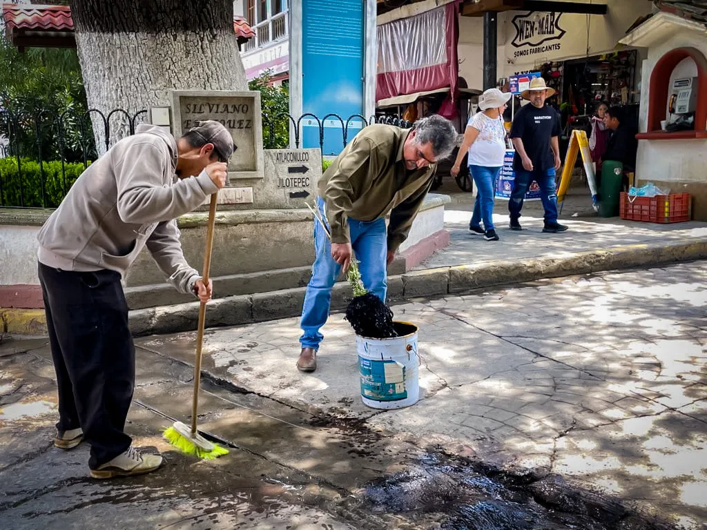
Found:
[[[356,335],[361,399],[371,408],[403,408],[416,404],[420,397],[417,326],[393,324],[398,337]]]

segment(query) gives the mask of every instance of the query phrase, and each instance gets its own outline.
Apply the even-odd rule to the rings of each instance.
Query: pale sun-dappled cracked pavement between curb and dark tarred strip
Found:
[[[396,305],[420,327],[422,390],[397,411],[361,403],[341,314],[323,329],[313,375],[295,370],[294,318],[209,330],[204,370],[301,411],[559,473],[705,528],[706,280],[693,262]],[[188,363],[193,336],[138,343]]]

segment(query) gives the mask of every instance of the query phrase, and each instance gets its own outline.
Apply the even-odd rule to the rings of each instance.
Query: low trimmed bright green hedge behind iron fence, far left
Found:
[[[18,171],[17,158],[0,158],[0,206],[56,208],[64,199],[64,189],[69,191],[84,167],[83,163],[64,163],[62,169],[61,160],[49,160],[42,163],[42,170],[43,175],[37,160],[21,158]],[[42,176],[45,182],[44,201]]]

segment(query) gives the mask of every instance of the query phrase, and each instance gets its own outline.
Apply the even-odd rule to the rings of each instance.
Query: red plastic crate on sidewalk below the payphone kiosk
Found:
[[[642,220],[649,223],[681,223],[692,218],[689,193],[636,197],[621,192],[619,204],[621,219]]]

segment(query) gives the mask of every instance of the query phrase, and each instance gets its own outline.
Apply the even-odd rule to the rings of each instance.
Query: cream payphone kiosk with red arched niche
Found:
[[[638,119],[637,185],[689,193],[707,220],[707,21],[657,13],[626,35],[645,49]]]

